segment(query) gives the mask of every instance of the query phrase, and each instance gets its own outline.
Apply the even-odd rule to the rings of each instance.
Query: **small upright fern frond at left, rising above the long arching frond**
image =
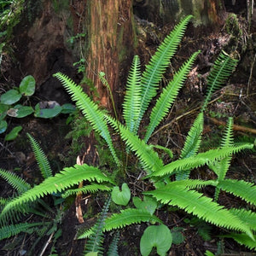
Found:
[[[28,133],[26,133],[27,137],[29,138],[29,142],[31,143],[33,153],[35,154],[35,158],[37,160],[39,170],[42,173],[44,178],[52,176],[52,170],[49,166],[49,160],[47,159],[46,155],[42,148],[40,148],[38,142]]]

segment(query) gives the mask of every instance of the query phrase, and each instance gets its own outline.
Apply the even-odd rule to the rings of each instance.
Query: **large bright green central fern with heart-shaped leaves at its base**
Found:
[[[168,206],[177,207],[209,224],[216,225],[224,230],[224,236],[232,236],[247,247],[256,248],[254,235],[256,213],[253,212],[253,206],[256,205],[256,187],[253,183],[226,177],[231,156],[242,150],[253,148],[253,144],[233,143],[233,121],[229,119],[220,147],[200,152],[204,111],[212,93],[226,83],[236,68],[236,59],[225,52],[221,52],[214,62],[207,79],[206,100],[202,103],[201,112],[198,113],[194,124],[191,126],[177,160],[172,160],[170,148],[151,145],[148,142],[150,142],[149,139],[155,128],[160,125],[160,122],[172,108],[178,91],[182,88],[200,51],[191,55],[189,60],[185,61],[182,67],[173,74],[172,80],[160,92],[160,96],[149,114],[146,133],[139,134],[143,117],[152,103],[152,99],[159,91],[160,80],[166,72],[166,68],[169,67],[170,60],[181,43],[183,33],[191,18],[190,15],[185,17],[174,27],[170,35],[160,44],[143,73],[140,71],[139,57],[134,57],[127,79],[123,103],[124,122],[102,111],[83,92],[82,88],[67,78],[66,75],[55,73],[55,78],[61,80],[73,101],[76,102],[77,107],[90,122],[93,130],[106,141],[115,166],[110,170],[100,170],[87,164],[66,167],[54,177],[47,177],[43,183],[24,191],[20,196],[9,201],[0,214],[0,222],[6,221],[14,215],[14,212],[22,213],[24,204],[38,201],[44,195],[61,192],[62,197],[66,198],[69,195],[77,195],[77,193],[101,192],[111,194],[111,201],[119,206],[120,210],[107,214],[110,203],[110,199],[108,199],[96,224],[89,230],[79,230],[79,238],[88,238],[84,254],[102,255],[105,252],[103,247],[104,232],[118,230],[117,235],[113,237],[113,244],[109,248],[109,255],[118,255],[119,230],[131,224],[145,222],[148,224],[148,228],[144,230],[141,238],[141,253],[143,256],[149,255],[151,250],[156,247],[159,255],[165,255],[172,246],[174,231],[169,230],[164,224],[164,221],[156,213],[156,209],[167,208]],[[108,81],[102,75],[100,78],[108,86]],[[125,143],[123,154],[126,154],[127,161],[119,160],[117,151],[122,150],[122,148],[120,149],[119,145],[113,142],[111,136],[113,131],[119,134],[120,140]],[[171,157],[170,162],[164,163],[155,148],[158,152],[161,150],[167,152]],[[132,159],[130,158],[131,154],[137,157],[138,165],[129,162]],[[191,170],[201,166],[210,168],[217,178],[211,180],[191,178]],[[137,196],[132,196],[132,199],[131,189],[128,185],[129,179],[127,178],[129,172],[137,175],[137,179],[143,179],[143,182],[150,184],[148,186],[150,189],[137,193]],[[76,186],[82,181],[86,181],[86,185],[77,188]],[[207,186],[215,189],[213,198],[202,192]],[[247,202],[248,207],[228,209],[220,205],[218,203],[220,191],[241,198]],[[159,234],[165,234],[166,240],[160,240]]]

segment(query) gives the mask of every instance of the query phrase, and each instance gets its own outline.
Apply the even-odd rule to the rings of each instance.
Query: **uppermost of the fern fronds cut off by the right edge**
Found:
[[[218,188],[256,206],[256,185],[243,180],[224,179],[218,181]]]

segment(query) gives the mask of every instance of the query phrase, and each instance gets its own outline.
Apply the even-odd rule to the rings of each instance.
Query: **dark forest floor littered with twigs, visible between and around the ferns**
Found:
[[[166,26],[165,30],[170,31],[170,27]],[[174,155],[180,153],[184,138],[195,120],[206,92],[207,73],[210,67],[212,67],[212,63],[220,52],[220,49],[226,47],[225,42],[227,41],[227,37],[227,34],[223,31],[209,33],[200,39],[195,39],[195,35],[193,34],[186,34],[182,46],[177,51],[172,61],[170,73],[172,73],[172,69],[177,70],[181,63],[188,59],[189,55],[197,49],[201,49],[201,55],[198,61],[196,61],[195,67],[191,73],[189,73],[189,78],[179,94],[172,111],[160,125],[161,128],[159,127],[159,130],[154,132],[150,143],[171,148]],[[155,38],[150,38],[150,35],[148,35],[146,40],[146,44],[143,42],[143,45],[139,45],[138,47],[138,52],[146,56],[144,57],[144,62],[148,61],[147,56],[154,53],[156,45],[158,44],[155,42]],[[28,42],[22,41],[22,45],[27,44]],[[251,44],[255,45],[256,42]],[[22,51],[22,45],[17,46],[19,47],[19,51]],[[53,61],[61,59],[61,54],[61,52],[56,51]],[[253,129],[256,127],[256,68],[253,68],[253,61],[255,61],[253,54],[254,50],[250,48],[242,53],[239,67],[237,67],[229,84],[224,86],[222,90],[218,90],[212,97],[212,102],[209,104],[206,113],[201,150],[218,145],[221,134],[224,131],[224,122],[227,121],[229,116],[233,116],[234,123],[239,125],[235,127],[236,129],[234,131],[236,138],[246,138],[249,141],[255,139],[256,134]],[[20,81],[20,71],[10,71],[13,68],[18,68],[20,64],[18,65],[18,63],[8,61],[8,59],[5,61],[6,63],[2,64],[2,66],[5,67],[3,72],[4,77],[1,79],[2,90],[9,89],[9,85],[7,84],[17,84]],[[49,66],[50,64],[51,63],[49,63]],[[20,67],[20,69],[22,69],[22,67]],[[172,75],[167,76],[161,86],[165,86],[166,80],[170,79],[170,77],[172,77]],[[78,81],[79,76],[74,75],[73,79]],[[44,86],[44,84],[42,86]],[[32,96],[30,103],[33,106],[40,101],[53,100],[50,96],[56,95],[55,91],[59,93],[58,96],[55,96],[55,101],[61,103],[70,102],[64,90],[56,89],[55,85],[49,83],[47,89],[43,89],[43,87],[38,88],[35,96]],[[146,122],[145,120],[145,123]],[[36,184],[41,181],[38,166],[32,154],[32,148],[26,137],[27,132],[35,137],[40,146],[44,149],[44,152],[49,158],[50,165],[55,172],[59,172],[64,166],[71,166],[76,162],[76,155],[74,152],[71,152],[73,150],[72,139],[67,138],[68,132],[72,131],[72,127],[67,125],[67,115],[61,114],[54,119],[36,119],[32,116],[24,119],[9,119],[9,127],[12,128],[15,125],[22,125],[23,127],[20,136],[17,137],[15,141],[5,142],[4,136],[0,136],[0,168],[19,173],[21,177],[24,177],[26,181],[31,184]],[[86,150],[86,144],[84,144],[81,150]],[[79,154],[84,154],[84,152],[81,151]],[[88,164],[90,164],[90,162]],[[231,166],[228,172],[229,177],[253,183],[256,182],[255,154],[238,154],[233,158]],[[192,172],[191,177],[206,180],[212,178],[212,173],[206,168],[201,168],[200,171],[196,170]],[[131,175],[131,184],[133,183],[132,178]],[[140,184],[137,185],[140,186]],[[9,184],[5,183],[2,179],[0,179],[0,188],[0,197],[14,195],[14,191]],[[212,195],[211,189],[206,189],[204,192],[207,195]],[[132,193],[136,194],[136,189],[134,189]],[[94,222],[96,214],[101,211],[102,204],[104,203],[103,199],[101,195],[91,195],[88,197],[86,205],[83,205],[84,213],[87,212],[87,216],[90,217],[86,219],[86,224],[90,225],[90,223]],[[226,207],[241,205],[239,199],[227,195],[221,195],[220,202]],[[49,204],[51,204],[50,201]],[[44,255],[49,255],[50,248],[52,247],[55,247],[55,253],[58,255],[82,255],[84,241],[75,239],[79,222],[76,218],[74,203],[70,203],[65,212],[65,216],[61,219],[61,239],[55,241],[55,243],[50,241],[51,243],[49,243],[46,248]],[[217,236],[219,230],[217,228],[209,225],[209,227],[212,228],[211,239],[205,241],[198,234],[198,228],[186,221],[186,219],[189,218],[189,214],[183,211],[167,212],[160,210],[158,215],[170,228],[182,228],[183,236],[185,237],[181,244],[172,245],[169,255],[201,256],[204,255],[206,250],[212,252],[218,250],[219,238]],[[32,219],[37,220],[37,217],[32,215],[27,220],[31,221]],[[145,224],[137,224],[121,232],[119,255],[139,255],[139,241],[144,228]],[[105,239],[106,244],[108,244],[108,236],[110,235],[107,235]],[[26,253],[36,240],[37,237],[33,234],[22,233],[19,236],[1,241],[0,255],[27,255]],[[38,241],[32,255],[40,255],[48,241],[49,236],[45,236]],[[255,255],[255,253],[253,254],[247,250],[246,247],[238,246],[231,239],[226,239],[224,241],[224,253],[220,255]]]

